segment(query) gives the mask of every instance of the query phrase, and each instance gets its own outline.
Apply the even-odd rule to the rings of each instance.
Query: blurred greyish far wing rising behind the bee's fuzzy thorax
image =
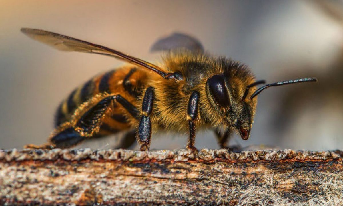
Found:
[[[152,45],[151,51],[170,51],[179,48],[188,49],[194,53],[203,53],[204,48],[200,41],[187,34],[174,33],[165,38],[158,39],[158,41]]]

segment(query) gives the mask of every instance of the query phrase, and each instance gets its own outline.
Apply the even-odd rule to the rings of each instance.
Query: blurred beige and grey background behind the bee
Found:
[[[0,1],[0,148],[42,144],[55,110],[78,85],[122,62],[66,53],[29,39],[40,28],[154,61],[149,52],[173,32],[197,37],[215,55],[245,62],[257,79],[317,77],[319,82],[270,88],[258,97],[248,141],[231,145],[343,149],[343,1]],[[118,137],[78,147],[110,148]],[[157,134],[151,149],[184,148],[187,135]],[[199,131],[198,148],[218,148]],[[134,147],[138,149],[138,147]]]

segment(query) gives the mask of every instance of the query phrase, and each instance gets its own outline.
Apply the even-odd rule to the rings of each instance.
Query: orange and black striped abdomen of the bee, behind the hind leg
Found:
[[[134,66],[126,66],[108,71],[84,83],[70,93],[58,107],[55,117],[55,127],[58,127],[71,117],[82,103],[99,93],[120,94],[126,100],[137,106],[137,97],[141,94],[146,80],[146,73]],[[114,104],[110,116],[106,116],[101,126],[101,135],[115,133],[118,130],[130,128],[121,105]]]

